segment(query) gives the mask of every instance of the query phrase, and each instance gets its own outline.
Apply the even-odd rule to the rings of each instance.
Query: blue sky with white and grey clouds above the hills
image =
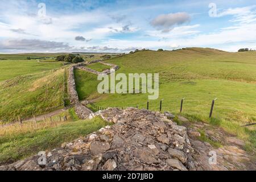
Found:
[[[0,53],[256,49],[255,0],[1,0]]]

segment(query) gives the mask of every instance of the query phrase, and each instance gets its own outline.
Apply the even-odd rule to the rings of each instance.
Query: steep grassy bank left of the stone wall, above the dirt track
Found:
[[[31,117],[63,107],[64,68],[0,82],[0,118]]]

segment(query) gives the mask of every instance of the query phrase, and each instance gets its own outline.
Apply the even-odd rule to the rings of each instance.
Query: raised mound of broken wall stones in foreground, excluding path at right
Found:
[[[1,170],[195,170],[197,162],[186,130],[160,113],[129,108],[96,113],[115,125],[106,126],[39,156],[0,167]],[[113,119],[114,118],[114,119]],[[177,128],[179,130],[177,130]],[[182,130],[182,132],[180,132]],[[180,142],[175,135],[183,138]],[[188,152],[189,151],[189,152]],[[51,154],[49,154],[51,153]]]

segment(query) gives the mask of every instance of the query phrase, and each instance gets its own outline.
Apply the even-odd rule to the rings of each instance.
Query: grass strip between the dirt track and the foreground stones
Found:
[[[85,121],[37,123],[32,127],[31,125],[33,124],[16,126],[22,132],[15,130],[15,133],[11,135],[5,134],[0,137],[0,166],[35,155],[39,151],[60,147],[62,143],[85,137],[105,127],[108,123],[96,117]],[[4,129],[0,128],[1,130]]]

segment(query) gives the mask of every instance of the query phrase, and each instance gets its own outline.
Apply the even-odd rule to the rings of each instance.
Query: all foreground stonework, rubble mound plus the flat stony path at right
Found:
[[[22,171],[119,171],[119,170],[255,170],[255,160],[241,147],[242,140],[206,123],[178,126],[166,115],[148,110],[109,108],[93,116],[114,123],[86,137],[48,151],[47,164],[40,166],[40,156],[1,166],[1,170]],[[188,124],[188,123],[187,123]],[[205,130],[210,140],[222,139],[221,147],[199,140]],[[211,131],[211,132],[210,132]],[[235,145],[234,145],[235,144]],[[210,164],[210,152],[217,163]]]

